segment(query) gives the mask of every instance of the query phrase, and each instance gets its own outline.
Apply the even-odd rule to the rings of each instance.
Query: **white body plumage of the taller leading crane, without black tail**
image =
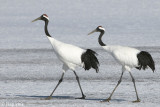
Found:
[[[47,36],[48,37],[48,36]],[[75,70],[76,66],[83,66],[81,55],[86,51],[74,45],[60,42],[52,37],[48,37],[57,57],[63,62],[65,70]]]

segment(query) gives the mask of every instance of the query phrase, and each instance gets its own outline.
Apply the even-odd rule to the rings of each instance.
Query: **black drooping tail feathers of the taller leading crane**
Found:
[[[97,53],[91,49],[87,49],[87,51],[82,54],[81,60],[84,63],[85,70],[93,68],[96,72],[99,71],[99,61],[95,55],[97,55]]]

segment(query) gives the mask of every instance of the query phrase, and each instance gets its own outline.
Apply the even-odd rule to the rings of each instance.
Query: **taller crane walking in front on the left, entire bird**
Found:
[[[53,50],[54,50],[56,56],[59,58],[59,60],[61,62],[63,62],[62,76],[61,76],[58,84],[56,85],[56,87],[54,88],[52,93],[50,94],[50,96],[47,97],[46,99],[52,98],[54,91],[57,89],[59,84],[62,82],[65,72],[69,69],[74,72],[76,79],[77,79],[77,82],[78,82],[78,85],[79,85],[79,88],[81,90],[82,97],[79,99],[85,99],[86,96],[83,94],[83,91],[82,91],[82,88],[80,85],[80,81],[79,81],[79,77],[75,72],[75,68],[77,66],[83,67],[85,70],[89,70],[90,68],[93,68],[98,73],[99,62],[96,57],[96,52],[94,52],[91,49],[85,50],[85,49],[81,49],[81,48],[74,46],[74,45],[63,43],[63,42],[60,42],[60,41],[56,40],[55,38],[51,37],[51,35],[48,32],[48,28],[47,28],[49,18],[46,14],[41,15],[40,17],[36,18],[32,22],[37,21],[37,20],[43,20],[45,22],[44,30],[45,30],[46,36],[49,39],[50,43],[52,44],[52,47],[53,47]]]

